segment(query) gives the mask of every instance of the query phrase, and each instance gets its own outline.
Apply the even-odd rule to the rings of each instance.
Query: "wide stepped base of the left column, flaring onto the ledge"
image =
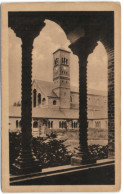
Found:
[[[10,174],[25,175],[42,171],[40,161],[33,153],[21,153],[10,167]]]

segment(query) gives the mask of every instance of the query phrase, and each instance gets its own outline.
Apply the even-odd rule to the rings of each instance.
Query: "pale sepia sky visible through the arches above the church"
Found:
[[[32,51],[32,79],[53,80],[53,52],[58,48],[68,48],[70,41],[62,28],[45,20],[46,26],[35,38]],[[10,105],[21,97],[21,39],[9,29],[9,95]],[[88,56],[88,88],[107,91],[107,53],[101,42]],[[70,54],[70,83],[79,86],[78,57]]]

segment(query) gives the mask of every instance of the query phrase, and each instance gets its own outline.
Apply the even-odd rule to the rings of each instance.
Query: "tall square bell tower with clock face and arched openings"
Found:
[[[58,49],[53,53],[54,92],[61,108],[70,108],[70,52]]]

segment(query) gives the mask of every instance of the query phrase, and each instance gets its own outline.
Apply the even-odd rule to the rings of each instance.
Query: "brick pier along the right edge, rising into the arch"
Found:
[[[113,27],[113,26],[112,26]],[[114,27],[113,27],[114,28]],[[114,29],[109,35],[101,33],[100,41],[103,43],[108,55],[108,157],[115,155],[115,115],[114,115]]]

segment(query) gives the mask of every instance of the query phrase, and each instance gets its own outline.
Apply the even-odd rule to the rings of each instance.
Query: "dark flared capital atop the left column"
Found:
[[[41,29],[45,26],[41,16],[35,16],[30,13],[10,13],[8,19],[8,26],[13,29],[16,36],[24,40],[34,40]]]

